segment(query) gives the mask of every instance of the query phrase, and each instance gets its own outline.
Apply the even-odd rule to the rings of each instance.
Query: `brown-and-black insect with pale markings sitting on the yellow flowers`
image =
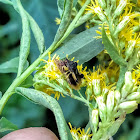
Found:
[[[84,77],[83,74],[80,74],[77,69],[77,62],[65,60],[54,60],[58,69],[64,74],[67,82],[71,85],[73,89],[79,89],[81,80]]]

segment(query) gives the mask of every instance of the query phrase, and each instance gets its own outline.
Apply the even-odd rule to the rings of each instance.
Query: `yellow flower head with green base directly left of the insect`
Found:
[[[56,59],[59,60],[59,57],[54,55],[51,59],[50,52],[48,55],[49,59],[47,61],[41,60],[46,64],[43,68],[36,72],[34,76],[34,87],[35,89],[43,91],[50,96],[54,94],[54,98],[58,100],[60,95],[64,97],[62,90],[59,89],[60,83],[63,85],[66,81],[54,62]]]

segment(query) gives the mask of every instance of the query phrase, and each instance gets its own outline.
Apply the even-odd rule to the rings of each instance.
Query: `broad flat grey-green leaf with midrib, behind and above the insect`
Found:
[[[65,58],[68,54],[69,58],[75,57],[74,60],[79,60],[80,64],[89,61],[104,49],[102,40],[94,38],[97,29],[98,26],[95,26],[75,35],[54,53],[60,58]]]

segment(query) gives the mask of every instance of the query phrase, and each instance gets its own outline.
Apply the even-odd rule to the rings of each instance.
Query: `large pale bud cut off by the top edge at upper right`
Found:
[[[117,8],[114,12],[113,18],[116,18],[117,16],[119,16],[123,12],[123,9],[126,6],[126,4],[127,4],[127,0],[120,0],[119,5],[117,6]]]

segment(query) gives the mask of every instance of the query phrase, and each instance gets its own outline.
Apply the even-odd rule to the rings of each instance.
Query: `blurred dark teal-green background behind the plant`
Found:
[[[45,45],[48,48],[52,43],[58,26],[55,18],[59,17],[57,10],[57,0],[22,0],[23,7],[33,16],[43,31]],[[84,26],[75,30],[78,33]],[[0,3],[0,64],[19,55],[19,44],[22,33],[21,18],[12,6]],[[31,64],[39,56],[39,51],[35,39],[31,38],[31,51],[28,58]],[[93,58],[86,63],[92,68],[97,63]],[[15,78],[13,73],[0,73],[0,91],[4,93]],[[87,107],[79,101],[69,97],[60,97],[60,106],[63,110],[67,122],[71,122],[75,127],[85,127],[88,122]],[[18,128],[31,126],[45,126],[51,129],[57,136],[57,126],[53,113],[39,105],[35,105],[14,94],[6,104],[2,116],[5,116]],[[118,133],[113,136],[114,140],[140,140],[140,113],[137,109],[127,118]],[[8,132],[7,132],[8,133]],[[6,133],[1,133],[0,137]]]

